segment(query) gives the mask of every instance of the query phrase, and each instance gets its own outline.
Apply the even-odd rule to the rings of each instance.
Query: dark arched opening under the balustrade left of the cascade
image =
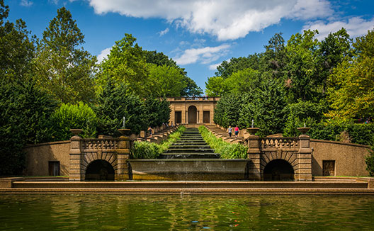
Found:
[[[103,159],[94,160],[87,166],[86,181],[114,181],[114,169]]]

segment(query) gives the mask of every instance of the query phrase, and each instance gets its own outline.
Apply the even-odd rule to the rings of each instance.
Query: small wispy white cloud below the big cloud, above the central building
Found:
[[[195,62],[201,62],[203,64],[208,64],[218,60],[223,55],[226,55],[227,49],[230,47],[228,44],[222,44],[217,47],[202,47],[202,48],[192,48],[185,50],[183,55],[174,58],[177,64],[191,64]]]

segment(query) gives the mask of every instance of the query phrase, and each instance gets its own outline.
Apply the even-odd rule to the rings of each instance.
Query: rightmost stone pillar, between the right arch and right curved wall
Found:
[[[299,136],[300,150],[297,153],[298,169],[295,171],[295,180],[312,181],[312,148],[310,147],[310,136]]]

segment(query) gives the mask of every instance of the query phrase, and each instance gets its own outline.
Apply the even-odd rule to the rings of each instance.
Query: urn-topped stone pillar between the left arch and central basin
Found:
[[[120,129],[125,130],[125,129]],[[126,129],[127,130],[127,129]],[[120,131],[121,132],[121,131]],[[128,159],[130,159],[130,137],[125,134],[126,131],[122,132],[122,135],[118,139],[118,150],[117,160],[114,165],[117,164],[117,169],[115,170],[114,179],[115,181],[124,181],[130,179],[130,172],[128,168]]]

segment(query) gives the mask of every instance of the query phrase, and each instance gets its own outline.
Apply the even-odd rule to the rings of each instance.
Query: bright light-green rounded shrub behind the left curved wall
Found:
[[[94,111],[85,103],[62,103],[52,114],[52,128],[55,140],[69,140],[72,137],[70,129],[81,128],[81,137],[96,137],[97,119]]]

